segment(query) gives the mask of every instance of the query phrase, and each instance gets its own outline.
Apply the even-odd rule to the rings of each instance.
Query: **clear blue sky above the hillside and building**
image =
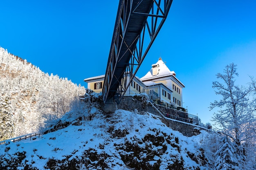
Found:
[[[45,73],[83,79],[103,75],[117,15],[118,0],[4,0],[0,46]],[[218,96],[216,74],[237,64],[237,84],[256,77],[256,1],[173,0],[164,26],[137,76],[143,77],[159,56],[186,86],[183,106],[204,123]]]

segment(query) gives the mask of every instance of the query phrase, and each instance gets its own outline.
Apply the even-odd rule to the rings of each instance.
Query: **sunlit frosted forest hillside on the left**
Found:
[[[48,75],[0,47],[0,141],[37,132],[84,94],[84,87]]]

